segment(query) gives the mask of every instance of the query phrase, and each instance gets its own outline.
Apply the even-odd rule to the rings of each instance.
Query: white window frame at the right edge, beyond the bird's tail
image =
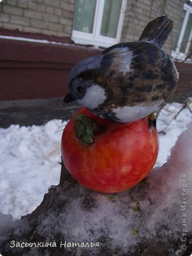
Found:
[[[184,18],[183,23],[182,23],[179,39],[178,39],[178,42],[177,42],[177,47],[176,47],[175,51],[171,52],[171,56],[174,59],[180,59],[180,60],[185,60],[185,58],[187,57],[187,53],[189,51],[189,47],[190,47],[190,43],[191,43],[190,41],[192,39],[192,30],[191,30],[191,33],[190,33],[190,36],[189,36],[189,42],[188,42],[187,47],[186,47],[186,52],[185,53],[180,52],[182,38],[183,38],[183,35],[185,33],[185,29],[186,29],[186,26],[187,26],[187,20],[188,20],[189,14],[192,13],[192,7],[189,6],[188,4],[184,4],[183,9],[186,10],[186,14],[185,14],[185,18]],[[188,59],[188,61],[191,61],[191,59]]]

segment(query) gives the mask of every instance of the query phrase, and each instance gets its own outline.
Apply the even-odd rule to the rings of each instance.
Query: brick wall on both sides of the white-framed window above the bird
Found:
[[[185,0],[127,0],[122,42],[137,41],[146,24],[161,15],[174,20],[174,28],[164,45],[171,53]],[[70,37],[75,0],[3,0],[0,27],[47,35]]]

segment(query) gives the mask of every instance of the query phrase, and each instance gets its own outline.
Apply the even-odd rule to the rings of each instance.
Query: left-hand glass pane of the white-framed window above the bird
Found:
[[[73,29],[92,33],[96,0],[76,0]]]

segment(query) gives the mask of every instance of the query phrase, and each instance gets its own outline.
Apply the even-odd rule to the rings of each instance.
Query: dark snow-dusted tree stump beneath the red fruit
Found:
[[[190,255],[192,124],[167,163],[134,188],[101,194],[77,183],[62,164],[31,214],[0,215],[0,253],[7,255]],[[145,156],[143,156],[145,157]]]

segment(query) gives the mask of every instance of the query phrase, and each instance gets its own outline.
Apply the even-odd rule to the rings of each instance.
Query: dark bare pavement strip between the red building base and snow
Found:
[[[169,102],[183,102],[186,97],[192,97],[191,87],[179,88]],[[68,120],[81,106],[77,102],[63,103],[59,99],[37,99],[0,101],[0,127],[11,124],[42,125],[51,119]]]

